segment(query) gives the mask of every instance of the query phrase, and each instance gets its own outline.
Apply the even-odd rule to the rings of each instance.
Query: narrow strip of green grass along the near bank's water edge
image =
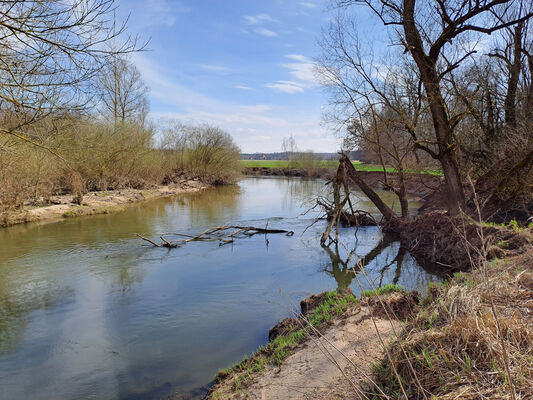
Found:
[[[288,335],[278,336],[272,342],[259,348],[251,357],[244,357],[234,366],[220,370],[215,377],[215,383],[231,377],[232,389],[236,391],[243,389],[250,383],[255,373],[263,371],[268,365],[279,366],[310,335],[313,328],[320,329],[334,316],[343,314],[351,303],[357,303],[357,299],[351,294],[343,296],[337,291],[328,292],[326,300],[307,316],[309,325],[312,327],[306,326]],[[208,398],[217,399],[220,395],[220,392],[214,391]]]

